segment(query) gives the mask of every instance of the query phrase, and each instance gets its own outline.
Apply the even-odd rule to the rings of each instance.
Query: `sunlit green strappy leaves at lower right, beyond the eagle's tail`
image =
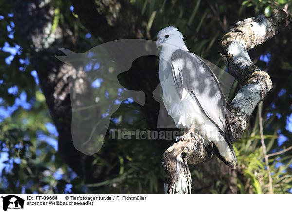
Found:
[[[274,141],[276,138],[279,138],[277,136],[278,130],[279,128],[276,127],[273,135],[264,135],[267,151],[275,146]],[[240,141],[235,143],[235,151],[238,161],[238,171],[241,172],[241,175],[238,175],[237,178],[237,186],[239,187],[240,194],[269,194],[269,176],[265,164],[263,147],[260,142],[258,119],[256,119],[254,128],[250,132],[247,130]],[[269,157],[269,167],[273,180],[273,193],[290,194],[292,155],[286,157],[280,156],[278,154]]]

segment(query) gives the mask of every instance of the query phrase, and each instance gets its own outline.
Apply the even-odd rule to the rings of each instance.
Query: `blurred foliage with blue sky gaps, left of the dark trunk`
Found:
[[[32,53],[15,26],[13,6],[13,2],[6,2],[0,8],[0,152],[5,164],[0,176],[1,194],[83,194],[83,181],[52,146],[57,143],[57,135],[46,127],[53,125],[52,119],[32,74]],[[67,10],[71,14],[69,7]],[[59,24],[59,13],[55,9],[51,33]],[[12,58],[9,63],[4,60],[8,57]],[[9,93],[11,87],[16,91]]]

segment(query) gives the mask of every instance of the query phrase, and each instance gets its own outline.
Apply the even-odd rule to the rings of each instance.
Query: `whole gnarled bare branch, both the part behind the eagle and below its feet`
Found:
[[[286,9],[274,9],[271,17],[259,15],[239,21],[221,40],[221,57],[228,71],[244,85],[231,102],[233,109],[230,124],[238,140],[256,106],[272,89],[270,76],[257,68],[247,51],[264,43],[285,28],[291,19]],[[192,130],[184,134],[183,141],[169,147],[162,156],[165,170],[165,194],[190,194],[191,174],[187,163],[198,164],[212,159],[202,145],[202,137]]]

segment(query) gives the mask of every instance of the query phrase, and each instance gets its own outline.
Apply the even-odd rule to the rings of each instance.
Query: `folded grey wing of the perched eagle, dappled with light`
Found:
[[[226,140],[232,145],[234,141],[229,124],[231,107],[212,70],[199,56],[184,50],[176,50],[172,54],[171,66],[180,98],[182,89],[188,90],[206,116],[221,129],[224,136],[231,137]]]

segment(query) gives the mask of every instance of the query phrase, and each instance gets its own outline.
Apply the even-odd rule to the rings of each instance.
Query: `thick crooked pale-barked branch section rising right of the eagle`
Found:
[[[288,25],[286,10],[274,9],[271,17],[259,15],[239,21],[221,40],[221,57],[228,71],[244,85],[231,102],[234,139],[243,134],[250,116],[272,88],[270,76],[257,68],[247,51],[272,38]]]

